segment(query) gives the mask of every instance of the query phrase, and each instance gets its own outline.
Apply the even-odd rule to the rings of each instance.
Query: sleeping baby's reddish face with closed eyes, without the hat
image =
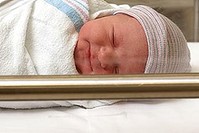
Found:
[[[87,22],[79,32],[74,54],[80,74],[144,73],[147,57],[142,26],[124,14]]]

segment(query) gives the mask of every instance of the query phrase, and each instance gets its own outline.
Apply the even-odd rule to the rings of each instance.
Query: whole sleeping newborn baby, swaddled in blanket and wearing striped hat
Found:
[[[0,12],[0,75],[183,73],[185,37],[150,7],[23,0]]]

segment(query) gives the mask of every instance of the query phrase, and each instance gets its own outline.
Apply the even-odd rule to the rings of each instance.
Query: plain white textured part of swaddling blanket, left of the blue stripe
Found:
[[[73,50],[78,34],[65,14],[43,0],[18,1],[4,10],[0,16],[1,75],[77,73]]]

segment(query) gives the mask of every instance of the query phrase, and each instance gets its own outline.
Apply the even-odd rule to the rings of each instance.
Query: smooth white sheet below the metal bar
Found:
[[[199,99],[133,100],[94,109],[0,110],[1,133],[198,133]]]

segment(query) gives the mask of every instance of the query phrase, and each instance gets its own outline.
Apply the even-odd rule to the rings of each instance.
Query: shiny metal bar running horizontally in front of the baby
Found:
[[[0,76],[0,100],[199,98],[199,74]]]

